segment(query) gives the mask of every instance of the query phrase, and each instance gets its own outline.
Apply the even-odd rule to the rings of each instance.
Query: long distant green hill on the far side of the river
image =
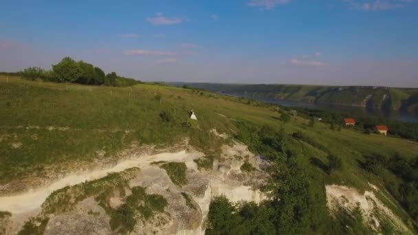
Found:
[[[317,85],[239,85],[173,82],[172,85],[207,89],[247,98],[283,99],[316,104],[341,104],[374,109],[418,111],[418,89],[390,87],[336,87]]]

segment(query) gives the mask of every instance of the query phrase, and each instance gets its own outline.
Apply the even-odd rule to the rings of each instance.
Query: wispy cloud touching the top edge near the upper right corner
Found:
[[[384,11],[403,8],[413,0],[344,0],[353,10]]]

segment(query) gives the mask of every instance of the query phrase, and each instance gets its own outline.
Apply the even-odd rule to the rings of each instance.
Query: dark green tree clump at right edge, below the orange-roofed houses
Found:
[[[418,156],[412,159],[395,154],[391,157],[369,155],[360,166],[382,177],[386,188],[418,221]]]

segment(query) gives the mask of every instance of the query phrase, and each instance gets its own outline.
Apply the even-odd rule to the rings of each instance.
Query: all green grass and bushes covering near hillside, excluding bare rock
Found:
[[[221,146],[229,142],[210,135],[216,128],[270,162],[271,179],[263,188],[270,200],[256,205],[214,199],[207,234],[361,234],[363,222],[358,222],[357,212],[335,218],[329,214],[325,185],[347,185],[361,191],[371,189],[369,181],[382,188],[379,195],[386,199],[382,202],[394,208],[410,228],[417,221],[417,142],[364,135],[355,128],[340,127],[338,131],[336,122],[336,130],[331,131],[331,121],[340,118],[337,114],[324,112],[322,116],[298,109],[298,115],[286,122],[280,117],[288,110],[278,113],[283,108],[270,104],[147,84],[128,88],[69,84],[67,89],[63,83],[0,76],[0,93],[0,106],[5,109],[0,112],[0,185],[13,186],[13,182],[107,161],[135,146],[170,146],[184,139],[206,154],[195,160],[198,168],[210,170]],[[161,96],[156,99],[155,94]],[[198,118],[195,126],[187,124],[190,109]],[[164,112],[172,114],[169,122],[161,115]],[[322,117],[323,122],[311,125],[309,117]],[[399,159],[393,158],[395,153]],[[371,160],[369,156],[378,157]],[[176,185],[188,183],[185,164],[155,164]],[[164,198],[146,194],[144,188],[130,188],[130,177],[129,171],[111,174],[58,190],[43,203],[43,213],[68,212],[77,201],[94,197],[111,217],[113,231],[129,232],[134,221],[146,221],[166,206]],[[113,192],[123,201],[118,208],[109,205]],[[187,196],[182,197],[187,203]],[[188,206],[192,205],[190,201]],[[410,217],[401,214],[401,208]],[[380,232],[383,230],[391,228],[385,225]]]

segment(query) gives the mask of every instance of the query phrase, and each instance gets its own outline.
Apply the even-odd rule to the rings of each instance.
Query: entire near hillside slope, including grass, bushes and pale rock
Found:
[[[416,231],[414,203],[388,188],[403,179],[364,164],[394,153],[412,162],[417,142],[160,85],[0,77],[0,105],[0,234]]]

